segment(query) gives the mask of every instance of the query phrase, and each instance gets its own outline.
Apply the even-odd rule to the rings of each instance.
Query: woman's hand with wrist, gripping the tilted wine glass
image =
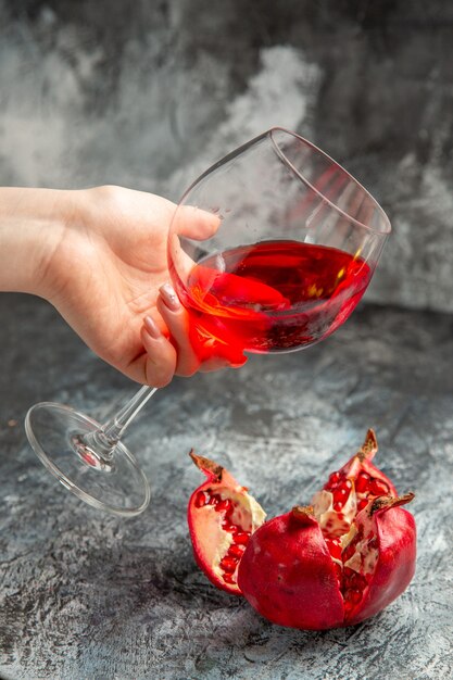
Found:
[[[0,190],[10,205],[13,197],[10,222],[0,209],[0,239],[4,242],[3,227],[14,251],[8,225],[22,225],[24,250],[22,255],[14,251],[13,260],[21,267],[22,256],[26,266],[16,272],[15,285],[0,276],[0,289],[49,300],[88,347],[138,382],[163,387],[175,373],[190,376],[227,365],[216,358],[200,365],[187,312],[169,285],[166,249],[174,203],[121,187]],[[186,236],[202,240],[217,228],[213,215],[184,210]]]

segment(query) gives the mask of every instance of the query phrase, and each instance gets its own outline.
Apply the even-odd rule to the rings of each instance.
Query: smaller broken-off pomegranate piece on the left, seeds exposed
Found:
[[[240,595],[238,565],[266,515],[222,465],[189,455],[207,478],[190,496],[187,513],[194,558],[214,585]]]

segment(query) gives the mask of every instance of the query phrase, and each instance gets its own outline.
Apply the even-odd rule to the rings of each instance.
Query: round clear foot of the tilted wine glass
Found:
[[[123,443],[108,457],[97,450],[92,433],[100,427],[83,413],[51,402],[36,404],[25,419],[35,453],[66,489],[108,513],[139,515],[150,502],[148,479]]]

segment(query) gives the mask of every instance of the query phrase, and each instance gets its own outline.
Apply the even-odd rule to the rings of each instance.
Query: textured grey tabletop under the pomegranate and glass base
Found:
[[[306,352],[175,381],[127,437],[153,488],[150,508],[128,521],[54,482],[22,423],[42,399],[102,417],[134,388],[42,301],[3,294],[0,318],[0,676],[451,678],[452,316],[366,306]],[[315,633],[272,626],[215,590],[186,526],[200,482],[190,446],[227,464],[272,516],[309,500],[368,426],[381,466],[417,494],[406,593],[356,628]]]

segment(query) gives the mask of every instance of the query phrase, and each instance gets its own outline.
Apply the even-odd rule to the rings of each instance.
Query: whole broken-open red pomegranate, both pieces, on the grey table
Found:
[[[191,454],[207,477],[189,502],[198,564],[215,585],[242,593],[281,626],[320,630],[374,616],[408,585],[416,555],[415,521],[401,507],[414,494],[397,495],[372,463],[376,452],[368,430],[312,505],[266,524],[227,470]]]

